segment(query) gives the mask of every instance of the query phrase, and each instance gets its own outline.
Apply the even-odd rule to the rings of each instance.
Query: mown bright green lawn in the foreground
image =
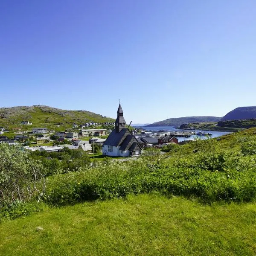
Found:
[[[42,227],[44,230],[37,230]],[[0,255],[255,255],[256,204],[158,193],[50,208],[0,224]]]

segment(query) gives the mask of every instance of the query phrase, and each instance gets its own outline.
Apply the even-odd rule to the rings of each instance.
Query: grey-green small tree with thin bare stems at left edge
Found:
[[[40,201],[45,192],[41,162],[29,158],[20,146],[0,144],[0,205],[13,201]]]

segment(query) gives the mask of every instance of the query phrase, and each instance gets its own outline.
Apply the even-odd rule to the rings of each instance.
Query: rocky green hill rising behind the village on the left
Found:
[[[32,122],[32,125],[20,125],[21,121]],[[114,119],[90,111],[62,110],[44,105],[0,108],[0,126],[8,128],[46,127],[60,131],[72,127],[73,123],[79,125],[85,122],[114,122]]]

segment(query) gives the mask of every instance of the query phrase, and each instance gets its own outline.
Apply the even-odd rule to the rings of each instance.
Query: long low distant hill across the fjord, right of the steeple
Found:
[[[169,118],[163,121],[154,122],[153,124],[147,126],[180,126],[185,123],[195,123],[195,122],[218,122],[221,117],[216,116],[185,116],[177,118]]]

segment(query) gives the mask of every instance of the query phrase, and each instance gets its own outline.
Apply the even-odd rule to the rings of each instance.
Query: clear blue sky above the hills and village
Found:
[[[256,105],[255,0],[0,2],[0,107],[126,122]]]

